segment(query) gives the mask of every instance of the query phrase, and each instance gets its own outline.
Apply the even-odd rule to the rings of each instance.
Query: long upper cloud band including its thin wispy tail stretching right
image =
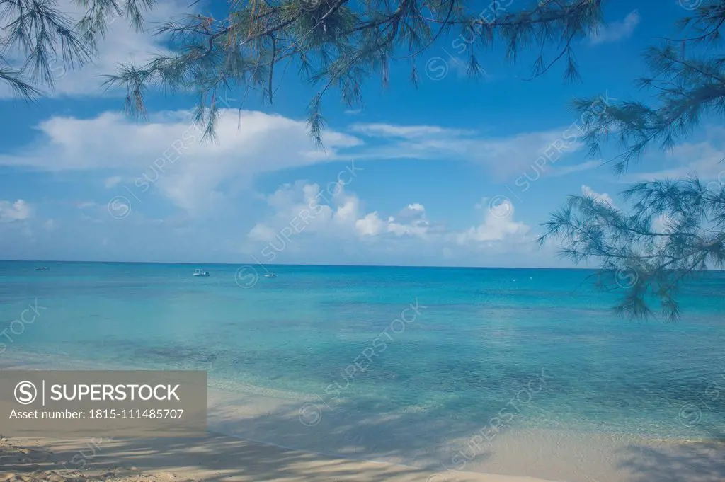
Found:
[[[220,212],[260,173],[352,157],[450,159],[481,163],[498,178],[521,175],[563,133],[481,138],[433,125],[356,124],[352,132],[369,140],[330,129],[320,151],[304,120],[236,109],[221,111],[215,144],[202,141],[186,110],[157,112],[145,123],[117,112],[91,118],[57,115],[36,129],[40,138],[12,154],[0,154],[0,166],[96,172],[104,186],[129,200],[142,202],[141,196],[153,189],[194,216]],[[578,145],[564,153],[574,149]]]

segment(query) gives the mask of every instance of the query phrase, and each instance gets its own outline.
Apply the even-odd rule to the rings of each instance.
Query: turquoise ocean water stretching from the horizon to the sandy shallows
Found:
[[[346,440],[370,458],[445,452],[493,417],[522,433],[724,439],[723,273],[687,285],[666,323],[615,315],[618,293],[587,270],[281,265],[245,287],[238,268],[0,262],[0,362],[207,370],[214,389],[286,407],[229,432],[310,448],[314,430],[315,449]]]

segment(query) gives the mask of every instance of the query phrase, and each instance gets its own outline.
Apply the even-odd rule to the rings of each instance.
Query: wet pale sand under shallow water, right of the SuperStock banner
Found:
[[[334,447],[336,454],[350,459],[415,465],[427,469],[421,482],[445,480],[431,477],[435,473],[455,481],[444,465],[465,472],[562,482],[725,482],[725,442],[525,429],[514,424],[491,444],[482,444],[464,466],[463,457],[455,454],[469,446],[479,426],[454,426],[450,420],[411,425],[407,417],[368,418],[333,406],[320,407],[321,420],[308,427],[299,422],[300,405],[212,389],[210,429],[308,452],[324,453]],[[678,423],[676,417],[673,423]],[[411,439],[419,443],[410,446]],[[436,446],[439,440],[448,443]],[[471,450],[466,454],[471,455]]]

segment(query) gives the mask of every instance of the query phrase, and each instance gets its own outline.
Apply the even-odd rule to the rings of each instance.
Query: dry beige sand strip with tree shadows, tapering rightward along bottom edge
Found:
[[[544,482],[325,457],[210,433],[204,439],[0,440],[1,482]],[[82,470],[81,470],[82,469]]]

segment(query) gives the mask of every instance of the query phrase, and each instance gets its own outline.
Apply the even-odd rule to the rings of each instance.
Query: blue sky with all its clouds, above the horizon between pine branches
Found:
[[[38,103],[0,85],[0,259],[570,267],[535,242],[566,196],[626,207],[618,193],[634,181],[725,180],[717,123],[617,176],[609,153],[587,156],[571,108],[576,96],[642,95],[642,51],[696,4],[608,2],[605,25],[576,44],[580,83],[563,82],[563,63],[527,81],[531,52],[513,63],[500,49],[474,80],[465,43],[442,39],[416,62],[418,88],[401,62],[387,86],[365,84],[359,109],[331,92],[324,150],[305,126],[315,88],[291,74],[271,105],[229,91],[216,143],[201,139],[188,96],[152,91],[146,120],[126,116],[125,93],[99,75],[168,45],[114,20],[95,64],[58,62]],[[160,0],[146,18],[213,7]]]

